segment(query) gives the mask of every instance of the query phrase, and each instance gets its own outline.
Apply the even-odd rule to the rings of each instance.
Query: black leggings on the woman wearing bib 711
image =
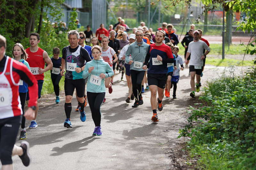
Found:
[[[92,120],[96,126],[100,126],[100,119],[101,119],[101,113],[100,113],[100,106],[104,100],[105,92],[101,93],[93,93],[93,92],[87,92],[87,100],[92,112]]]

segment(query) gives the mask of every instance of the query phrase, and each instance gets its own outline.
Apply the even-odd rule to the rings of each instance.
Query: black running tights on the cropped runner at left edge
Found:
[[[0,159],[2,165],[12,164],[12,149],[16,142],[22,115],[0,119]]]

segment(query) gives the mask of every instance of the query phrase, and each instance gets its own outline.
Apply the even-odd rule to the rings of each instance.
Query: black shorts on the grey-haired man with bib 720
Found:
[[[68,79],[65,78],[64,90],[65,96],[73,96],[74,90],[76,88],[77,97],[84,97],[85,79]]]

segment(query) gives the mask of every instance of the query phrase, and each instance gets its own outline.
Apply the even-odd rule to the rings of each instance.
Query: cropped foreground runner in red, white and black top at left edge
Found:
[[[0,160],[3,170],[12,170],[12,155],[19,155],[24,166],[30,164],[28,142],[21,142],[20,147],[15,145],[23,114],[19,97],[19,81],[22,80],[28,84],[30,100],[24,115],[28,120],[35,117],[38,87],[36,78],[27,66],[6,56],[5,49],[6,39],[0,35]],[[24,49],[22,51],[25,54]],[[18,56],[22,52],[14,53]]]

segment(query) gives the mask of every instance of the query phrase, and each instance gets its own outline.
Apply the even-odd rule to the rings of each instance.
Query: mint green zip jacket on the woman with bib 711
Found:
[[[91,73],[89,73],[89,68],[94,67]],[[108,73],[106,73],[108,72]],[[104,73],[106,75],[106,78],[111,77],[114,75],[113,68],[110,67],[110,65],[101,58],[100,60],[92,60],[88,63],[85,64],[85,68],[83,71],[83,78],[88,77],[87,81],[87,92],[93,92],[93,93],[101,93],[101,92],[106,92],[106,87],[105,87],[105,78],[101,79],[100,85],[95,85],[93,84],[93,77],[91,79],[92,75],[95,76],[100,76],[101,73]]]

